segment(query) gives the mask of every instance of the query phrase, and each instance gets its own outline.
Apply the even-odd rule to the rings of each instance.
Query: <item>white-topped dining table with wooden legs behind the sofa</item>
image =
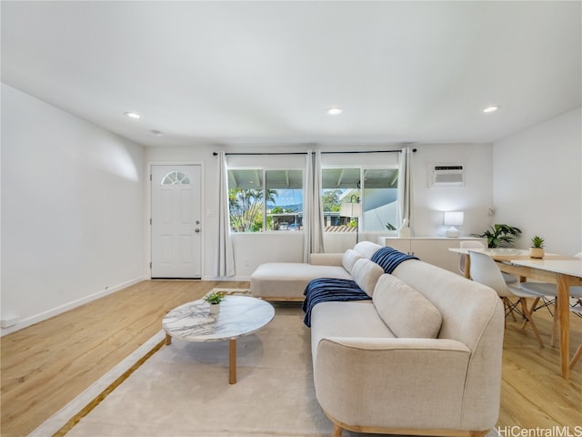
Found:
[[[562,377],[570,376],[570,287],[582,285],[582,259],[548,253],[544,259],[529,257],[525,249],[460,249],[450,248],[452,252],[468,255],[468,250],[483,252],[497,261],[501,271],[516,275],[520,281],[537,279],[557,284],[557,318],[560,330],[560,363]],[[470,271],[470,259],[466,260],[466,276]]]

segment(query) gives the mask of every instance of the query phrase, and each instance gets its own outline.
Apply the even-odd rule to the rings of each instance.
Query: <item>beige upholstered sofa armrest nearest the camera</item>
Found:
[[[316,398],[328,415],[351,425],[490,429],[499,406],[489,399],[491,381],[483,382],[482,423],[463,422],[470,359],[457,340],[324,338],[314,357]]]

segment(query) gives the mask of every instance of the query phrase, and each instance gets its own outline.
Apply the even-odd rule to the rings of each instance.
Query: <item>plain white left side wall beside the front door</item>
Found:
[[[144,277],[144,151],[2,85],[2,319],[21,329]]]

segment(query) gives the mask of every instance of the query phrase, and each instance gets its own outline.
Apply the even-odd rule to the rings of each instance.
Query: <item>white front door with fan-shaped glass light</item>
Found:
[[[152,278],[200,279],[200,166],[152,166]]]

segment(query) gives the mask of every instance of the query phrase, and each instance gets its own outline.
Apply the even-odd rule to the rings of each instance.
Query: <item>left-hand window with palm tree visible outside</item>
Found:
[[[303,226],[303,171],[228,170],[232,232],[300,230]]]

